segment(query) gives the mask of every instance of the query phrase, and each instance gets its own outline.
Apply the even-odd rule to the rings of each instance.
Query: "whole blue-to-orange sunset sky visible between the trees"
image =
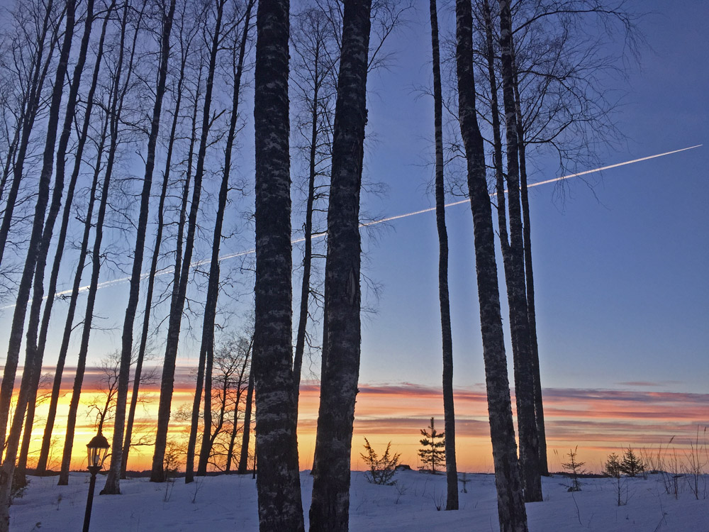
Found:
[[[388,193],[367,196],[365,207],[381,216],[406,214],[434,203],[428,187],[433,174],[432,102],[420,92],[430,84],[430,30],[428,11],[418,8],[409,26],[393,40],[397,56],[391,68],[375,72],[369,80],[372,135],[365,172],[371,181],[384,182]],[[442,20],[450,22],[446,9],[442,8]],[[709,3],[638,1],[637,9],[652,11],[640,23],[649,47],[643,50],[640,67],[629,62],[627,84],[613,81],[613,87],[627,92],[618,112],[627,141],[603,148],[599,154],[603,164],[709,140],[705,68]],[[250,121],[246,131],[252,131]],[[240,174],[251,171],[252,155],[247,151],[251,143],[249,138],[243,141]],[[532,182],[560,175],[549,155],[537,156],[533,167]],[[698,430],[703,437],[709,425],[708,168],[705,145],[585,180],[569,179],[563,189],[554,184],[530,189],[540,371],[552,470],[559,470],[561,461],[554,450],[563,455],[576,445],[586,467],[598,470],[608,452],[623,446],[657,450],[674,436],[673,445],[681,450]],[[234,208],[251,209],[252,198],[240,199]],[[447,226],[459,469],[491,471],[469,207],[448,209]],[[250,250],[250,238],[235,238],[223,249]],[[362,321],[352,465],[362,467],[358,456],[366,436],[376,450],[384,450],[391,440],[402,461],[415,467],[420,428],[431,416],[441,428],[443,420],[435,214],[393,221],[379,226],[374,235],[364,231],[363,248],[363,272],[381,286],[381,292],[374,297],[363,289],[364,300],[374,311]],[[300,257],[295,246],[294,263]],[[69,277],[62,279],[60,289],[69,283]],[[104,318],[99,321],[103,330],[93,333],[89,365],[98,365],[118,347],[127,287],[117,283],[99,292],[97,314]],[[233,305],[236,314],[245,314],[251,304],[248,289],[242,292],[238,301],[223,301]],[[507,324],[504,293],[502,299]],[[60,316],[65,305],[57,307]],[[0,330],[7,331],[11,311],[1,312]],[[54,336],[45,356],[48,371],[56,361],[62,321],[57,318],[50,331]],[[192,326],[199,328],[198,323]],[[179,402],[191,401],[194,391],[189,372],[196,365],[198,335],[194,331],[192,335],[185,336],[179,353],[173,411]],[[78,340],[72,341],[75,357]],[[155,352],[160,353],[160,345]],[[317,358],[304,364],[299,423],[303,468],[312,461],[319,364]],[[67,392],[71,369],[65,373]],[[95,387],[96,375],[90,375],[84,400]],[[150,394],[157,400],[156,387]],[[63,401],[66,406],[69,397]],[[65,411],[60,410],[58,423]],[[150,419],[155,411],[154,401],[140,417]],[[42,409],[38,415],[43,415]],[[80,462],[84,440],[93,429],[84,414],[79,416],[82,426],[74,456]],[[35,427],[38,437],[42,429],[43,423]],[[63,430],[55,429],[60,439]],[[60,453],[59,447],[55,458]],[[151,455],[143,450],[142,458],[136,455],[130,467],[149,467]]]

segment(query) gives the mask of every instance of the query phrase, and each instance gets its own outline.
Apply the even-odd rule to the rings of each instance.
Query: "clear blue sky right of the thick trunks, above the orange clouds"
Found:
[[[640,65],[630,64],[627,84],[617,84],[627,91],[617,115],[627,146],[602,154],[605,164],[704,143],[708,136],[703,21],[709,5],[656,1],[638,2],[637,9],[655,11],[640,22],[649,48]],[[427,24],[426,11],[415,13],[399,35],[398,65],[370,78],[376,142],[367,170],[389,185],[388,196],[374,201],[387,215],[432,205],[426,192],[432,168],[425,167],[432,102],[414,89],[430,83]],[[530,190],[545,387],[644,382],[705,391],[708,153],[701,147],[608,170],[591,179],[593,189],[572,179],[563,201],[554,185]],[[553,162],[535,163],[540,170],[533,181],[558,176]],[[448,209],[447,224],[454,380],[469,386],[483,380],[469,208]],[[368,273],[384,291],[378,314],[364,322],[362,381],[435,384],[441,370],[435,216],[395,221],[377,240],[368,250]]]

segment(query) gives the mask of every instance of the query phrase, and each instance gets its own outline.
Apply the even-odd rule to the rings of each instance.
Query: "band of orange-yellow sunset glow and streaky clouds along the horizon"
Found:
[[[71,370],[67,370],[72,375]],[[177,421],[177,411],[190,411],[194,384],[189,370],[179,368],[173,394],[173,420],[169,438],[186,440],[189,421]],[[83,469],[86,462],[85,444],[95,434],[94,418],[87,417],[88,405],[101,394],[98,372],[87,372],[82,402],[77,416],[72,450],[72,469]],[[48,392],[48,390],[44,390]],[[42,392],[40,392],[41,394]],[[57,422],[53,432],[51,468],[58,470],[65,437],[65,423],[71,396],[71,384],[62,387]],[[303,382],[299,399],[298,453],[301,469],[312,466],[317,429],[320,389],[317,383]],[[143,404],[138,406],[134,433],[152,437],[157,419],[160,384],[145,387]],[[514,397],[512,398],[514,407]],[[491,443],[484,389],[455,391],[456,447],[460,471],[492,472]],[[48,401],[39,405],[30,448],[30,467],[37,459]],[[360,384],[352,438],[352,468],[363,469],[359,456],[364,437],[374,450],[384,452],[391,441],[391,450],[401,453],[401,462],[418,467],[420,429],[428,426],[433,416],[439,430],[443,429],[443,406],[440,389],[420,384]],[[561,470],[569,449],[579,448],[579,458],[589,470],[600,470],[605,456],[632,445],[654,454],[660,445],[667,445],[674,436],[678,452],[688,448],[690,441],[709,425],[709,394],[681,392],[643,392],[603,389],[545,389],[545,424],[550,470]],[[106,421],[104,434],[111,441],[112,419]],[[701,437],[701,436],[700,436]],[[152,446],[130,451],[129,469],[147,470],[152,462]]]

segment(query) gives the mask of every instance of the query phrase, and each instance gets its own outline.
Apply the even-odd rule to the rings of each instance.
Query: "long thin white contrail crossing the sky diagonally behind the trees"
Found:
[[[629,161],[624,161],[624,162],[616,162],[615,165],[607,165],[607,166],[602,166],[600,168],[594,168],[593,170],[585,170],[584,172],[577,172],[576,174],[569,174],[569,175],[564,175],[562,177],[554,177],[553,179],[546,179],[545,181],[539,181],[536,183],[532,183],[527,185],[527,188],[532,188],[532,187],[540,187],[542,184],[549,184],[549,183],[556,183],[559,181],[564,181],[564,179],[571,179],[571,177],[579,177],[581,175],[588,175],[588,174],[594,174],[596,172],[603,172],[603,170],[610,170],[612,168],[618,168],[620,166],[625,166],[625,165],[632,165],[635,162],[642,162],[642,161],[647,161],[651,159],[657,159],[657,157],[664,157],[665,155],[672,155],[674,153],[680,153],[684,152],[686,150],[693,150],[694,148],[699,148],[702,146],[702,144],[697,144],[694,146],[689,146],[688,148],[681,148],[681,150],[673,150],[671,152],[665,152],[665,153],[657,153],[656,155],[648,155],[647,157],[640,157],[640,159],[632,159]],[[495,196],[496,193],[493,192],[493,194],[490,194],[491,196]],[[462,205],[462,204],[469,204],[470,200],[469,199],[462,199],[460,201],[453,201],[452,203],[445,204],[446,207],[452,207],[456,205]],[[409,216],[416,216],[417,214],[424,214],[427,212],[432,212],[435,211],[435,207],[429,207],[428,209],[421,209],[420,211],[413,211],[413,212],[408,212],[406,214],[397,214],[396,216],[389,216],[387,218],[381,218],[381,220],[374,220],[374,221],[369,221],[365,223],[360,223],[359,227],[369,227],[369,226],[376,226],[378,223],[384,223],[384,222],[389,222],[389,221],[394,221],[394,220],[399,220],[401,218],[408,218]],[[325,236],[326,233],[315,233],[312,235],[312,238],[322,238]],[[296,238],[294,240],[291,240],[291,244],[297,244],[300,242],[304,242],[305,238]],[[256,250],[246,250],[246,251],[240,251],[238,253],[230,253],[228,255],[222,255],[219,257],[219,262],[223,262],[225,260],[233,259],[236,257],[244,257],[245,255],[252,255],[252,253],[256,253]],[[190,265],[190,269],[201,266],[201,265],[206,265],[211,262],[211,259],[204,259],[204,260],[198,260],[196,262],[192,262]],[[159,270],[158,272],[155,272],[155,277],[159,275],[167,275],[169,273],[172,273],[174,271],[173,267],[167,267],[162,270]],[[150,275],[149,272],[145,272],[140,275],[140,280],[147,279],[147,277]],[[121,284],[123,282],[128,282],[130,281],[130,277],[121,277],[120,279],[113,279],[111,281],[104,281],[100,282],[97,285],[97,288],[106,288],[113,286],[113,284]],[[84,287],[79,288],[79,292],[86,292],[86,290],[89,289],[89,285],[86,285]],[[63,297],[71,294],[71,290],[64,290],[62,292],[57,292],[55,294],[55,297]],[[48,296],[45,296],[45,299],[47,299]],[[5,310],[5,309],[12,309],[14,305],[8,305],[8,306],[3,306],[0,307],[0,309]]]

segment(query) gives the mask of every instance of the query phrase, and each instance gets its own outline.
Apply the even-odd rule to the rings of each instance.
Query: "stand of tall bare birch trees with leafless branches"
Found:
[[[166,480],[179,448],[185,482],[257,467],[261,530],[303,531],[296,430],[308,356],[321,357],[310,530],[348,530],[363,174],[366,135],[377,128],[367,79],[396,61],[386,41],[412,6],[27,0],[5,8],[0,301],[12,316],[0,388],[0,532],[9,530],[11,488],[28,470],[58,470],[58,483],[69,482],[87,413],[111,435],[102,493],[121,493],[134,448],[152,450],[152,482]],[[445,508],[458,509],[445,219],[458,189],[472,212],[469,272],[483,345],[465,355],[484,360],[501,530],[526,531],[525,501],[542,500],[548,474],[527,169],[543,150],[561,167],[592,160],[598,136],[618,134],[615,101],[592,73],[619,67],[579,28],[620,31],[633,48],[633,18],[623,0],[430,0],[428,8],[435,121],[417,133],[435,136]],[[454,27],[440,27],[442,9],[454,11]],[[460,160],[464,178],[454,183],[447,173]],[[252,247],[255,255],[240,253]],[[99,297],[118,284],[121,296]],[[95,340],[108,328],[117,348]],[[91,400],[86,379],[101,350],[113,354]],[[177,409],[185,358],[194,366],[191,406]],[[159,397],[150,395],[156,381]],[[157,417],[146,431],[149,401]]]

